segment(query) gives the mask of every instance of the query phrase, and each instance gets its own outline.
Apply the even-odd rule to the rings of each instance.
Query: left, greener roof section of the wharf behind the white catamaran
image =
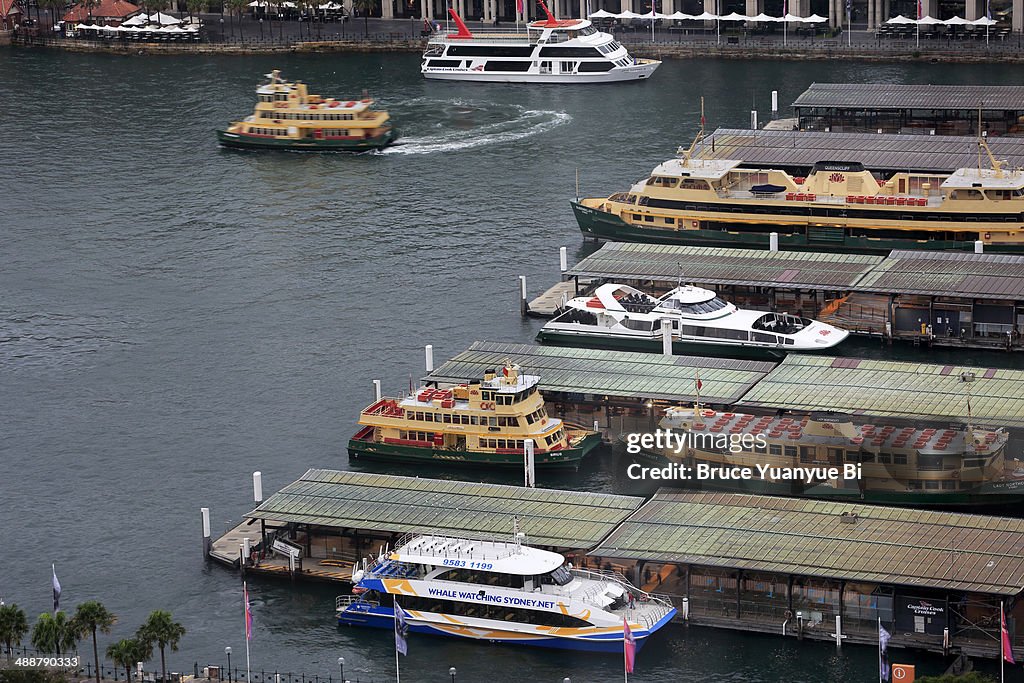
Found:
[[[818,290],[847,290],[885,257],[771,252],[610,242],[569,268],[571,275]]]

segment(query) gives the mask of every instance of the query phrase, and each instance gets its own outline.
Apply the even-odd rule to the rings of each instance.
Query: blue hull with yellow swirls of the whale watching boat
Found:
[[[637,650],[643,647],[647,638],[656,633],[676,615],[676,610],[671,610],[650,630],[634,630],[633,637],[636,641]],[[434,623],[424,618],[406,617],[406,625],[412,633],[421,633],[434,636],[447,636],[456,638],[466,638],[469,640],[483,640],[492,643],[508,643],[514,645],[529,645],[531,647],[546,647],[562,650],[581,650],[585,652],[612,652],[622,656],[623,653],[623,633],[622,629],[612,630],[593,635],[575,636],[549,636],[528,630],[516,631],[512,629],[502,629],[494,627],[461,625],[459,617],[445,616],[445,623]],[[394,629],[394,613],[391,607],[372,606],[360,608],[352,605],[349,608],[338,612],[339,626],[366,626],[377,629]],[[524,625],[526,626],[526,625]],[[529,629],[528,626],[526,626]],[[582,631],[583,629],[581,629]]]

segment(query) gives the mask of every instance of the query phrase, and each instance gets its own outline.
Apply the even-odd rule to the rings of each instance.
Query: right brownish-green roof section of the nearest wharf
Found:
[[[771,496],[660,489],[591,554],[990,595],[1024,590],[1024,520]]]

